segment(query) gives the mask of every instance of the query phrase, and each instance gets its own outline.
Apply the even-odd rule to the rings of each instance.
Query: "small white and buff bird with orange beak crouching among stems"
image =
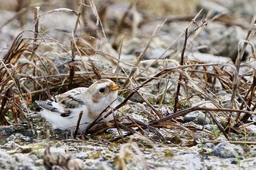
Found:
[[[80,131],[85,131],[89,123],[93,122],[108,106],[116,107],[117,90],[119,86],[108,79],[94,82],[89,88],[75,88],[62,93],[47,101],[36,101],[42,111],[39,112],[53,129],[65,131],[75,130],[81,111]],[[108,109],[109,110],[109,109]],[[106,120],[113,120],[109,115]]]

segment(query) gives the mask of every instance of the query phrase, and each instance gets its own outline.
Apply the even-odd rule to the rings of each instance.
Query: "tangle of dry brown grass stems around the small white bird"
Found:
[[[181,65],[164,68],[162,71],[146,77],[143,76],[145,75],[143,72],[145,72],[148,67],[143,66],[141,61],[143,55],[145,55],[146,50],[148,49],[148,46],[152,41],[154,41],[154,36],[157,34],[157,31],[159,31],[161,26],[157,26],[154,34],[152,34],[151,38],[148,39],[148,45],[146,45],[143,52],[138,55],[138,60],[135,64],[132,65],[131,63],[123,63],[122,61],[119,61],[118,58],[98,50],[97,45],[95,45],[93,41],[89,42],[89,39],[79,36],[78,27],[81,26],[80,18],[83,15],[83,9],[84,4],[80,3],[78,12],[75,12],[75,10],[72,9],[55,9],[45,13],[44,15],[38,15],[37,10],[35,10],[35,28],[33,31],[33,37],[29,38],[29,36],[26,36],[25,32],[20,33],[12,43],[12,47],[10,47],[8,52],[4,55],[4,58],[1,59],[0,121],[2,125],[19,125],[21,121],[30,125],[29,119],[27,119],[26,115],[31,112],[30,107],[35,99],[46,99],[56,93],[63,93],[64,91],[78,86],[88,86],[91,82],[97,79],[110,78],[122,86],[123,89],[121,92],[127,96],[126,99],[113,110],[118,110],[123,107],[127,104],[129,98],[132,98],[132,96],[137,93],[147,105],[148,109],[146,112],[148,112],[148,115],[151,115],[151,119],[148,121],[150,123],[144,123],[140,120],[129,117],[128,115],[121,116],[117,117],[116,120],[99,126],[97,129],[91,129],[96,122],[95,121],[89,126],[86,134],[91,134],[93,136],[101,134],[108,128],[118,128],[120,132],[128,131],[128,134],[123,135],[120,133],[120,136],[116,139],[111,139],[112,141],[124,139],[126,136],[130,136],[132,134],[141,134],[152,141],[156,140],[169,143],[166,136],[161,134],[159,128],[178,128],[189,134],[189,140],[185,144],[190,146],[198,142],[197,136],[194,132],[199,129],[186,127],[182,123],[178,122],[178,117],[187,115],[189,112],[196,110],[207,112],[212,117],[214,123],[218,125],[219,131],[226,136],[227,140],[230,139],[230,132],[240,134],[244,133],[244,130],[241,131],[239,127],[241,125],[246,125],[250,115],[255,114],[256,71],[255,68],[252,68],[252,71],[247,72],[246,74],[238,74],[238,71],[239,68],[243,66],[252,67],[249,63],[241,63],[241,56],[244,53],[246,45],[249,44],[252,35],[255,35],[255,17],[252,18],[252,25],[249,28],[246,42],[241,42],[244,46],[240,53],[238,53],[235,66],[228,63],[200,63],[198,61],[184,61]],[[97,37],[92,37],[92,39],[97,39],[102,44],[106,43],[110,45],[103,28],[104,24],[102,22],[104,22],[104,20],[100,19],[100,15],[97,12],[94,2],[89,1],[86,9],[91,9],[97,19],[95,22]],[[39,31],[40,18],[50,14],[51,12],[60,11],[72,12],[77,17],[72,31],[71,45],[63,44]],[[188,25],[188,28],[193,24],[197,26],[195,32],[190,34],[197,34],[197,31],[200,31],[199,28],[205,26],[198,26],[195,24],[198,23],[196,22],[198,15],[196,15]],[[119,30],[119,28],[116,28],[116,30]],[[183,34],[184,32],[181,31],[181,34],[177,36],[176,41],[181,39]],[[183,48],[184,51],[186,50],[186,42],[189,41],[189,35],[186,34]],[[172,45],[174,45],[176,41],[173,42]],[[116,45],[116,43],[113,43],[112,45],[114,44]],[[61,58],[61,54],[56,54],[53,59],[49,58],[48,55],[39,53],[40,49],[45,49],[45,47],[50,47],[52,45],[67,52],[65,53],[66,55],[64,58]],[[172,47],[172,45],[170,45],[170,47]],[[121,47],[121,45],[118,46]],[[170,49],[170,47],[168,47],[167,50]],[[253,47],[252,54],[250,62],[255,61],[256,59]],[[102,59],[109,61],[113,64],[113,67],[106,70],[99,69],[97,64],[91,60],[91,56],[93,55],[100,56]],[[82,60],[77,59],[76,56],[89,58],[89,62],[85,63]],[[58,61],[58,66],[56,66],[56,62]],[[154,63],[160,61],[160,59],[157,59]],[[131,72],[122,72],[124,69],[122,68],[121,63],[131,66]],[[113,72],[113,70],[116,70],[116,72]],[[135,74],[136,71],[139,71],[139,74]],[[177,76],[179,77],[178,79],[176,79]],[[247,77],[250,77],[250,79]],[[182,108],[179,88],[177,88],[173,108],[174,112],[170,113],[169,116],[165,116],[160,110],[160,104],[152,104],[148,101],[148,98],[144,98],[139,91],[140,88],[161,80],[172,80],[178,85],[178,87],[184,89],[187,95],[182,96],[182,101],[189,102],[192,100],[191,96],[198,96],[211,102],[215,107],[206,108],[198,105],[197,107]],[[233,94],[233,98],[231,98],[230,106],[228,108],[222,107],[222,101],[220,101],[214,94],[217,91],[214,89],[214,83],[217,81],[220,82],[223,90]],[[239,105],[239,103],[241,103],[241,105]],[[171,107],[170,104],[167,107]],[[7,115],[10,117],[7,118]],[[225,124],[217,120],[216,117],[219,116],[225,117]],[[102,117],[99,117],[97,120],[101,118]],[[157,137],[153,139],[148,136],[146,129]],[[135,150],[137,155],[140,155],[140,152],[136,150],[137,146],[134,143],[127,144],[127,146],[124,146],[122,149],[125,150],[125,152],[130,152],[126,149],[130,147]],[[130,152],[130,154],[132,153]],[[123,161],[124,158],[120,158],[120,166],[122,166]]]

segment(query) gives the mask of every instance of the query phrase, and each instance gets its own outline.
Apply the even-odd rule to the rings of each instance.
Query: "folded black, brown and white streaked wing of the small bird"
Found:
[[[47,101],[36,101],[39,107],[50,112],[59,112],[62,117],[70,115],[71,110],[80,107],[83,104],[82,93],[87,88],[75,88],[66,93],[62,93]]]

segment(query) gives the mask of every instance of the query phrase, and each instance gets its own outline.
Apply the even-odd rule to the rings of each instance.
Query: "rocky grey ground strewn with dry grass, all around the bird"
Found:
[[[3,2],[0,169],[255,169],[253,7],[250,0]],[[131,97],[116,117],[127,128],[73,138],[34,116],[35,100],[99,78]]]

